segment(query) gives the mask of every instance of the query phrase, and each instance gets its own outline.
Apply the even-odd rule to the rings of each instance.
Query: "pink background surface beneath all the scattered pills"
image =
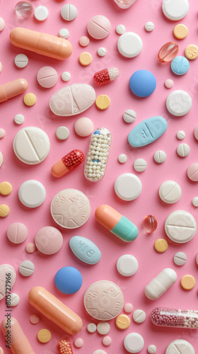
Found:
[[[73,345],[74,339],[83,338],[84,345],[81,349],[74,349],[74,353],[92,354],[94,350],[106,350],[108,354],[127,353],[124,350],[123,341],[127,333],[137,332],[144,337],[144,349],[141,353],[147,353],[147,347],[155,344],[157,353],[165,353],[165,348],[170,341],[176,338],[183,338],[190,341],[197,350],[197,331],[182,329],[160,329],[151,324],[150,313],[154,307],[175,307],[180,309],[197,309],[197,285],[193,290],[187,292],[182,290],[180,279],[185,274],[192,274],[197,279],[197,265],[195,256],[197,254],[197,235],[187,244],[174,244],[168,239],[164,231],[166,217],[174,210],[187,210],[197,219],[197,211],[192,205],[192,198],[197,196],[197,183],[191,182],[187,178],[187,167],[197,162],[197,140],[194,139],[194,127],[197,125],[197,93],[198,93],[198,71],[197,60],[190,61],[190,70],[184,76],[175,76],[170,70],[170,64],[158,62],[158,50],[165,42],[176,41],[179,46],[179,55],[184,55],[185,47],[192,43],[197,44],[197,6],[196,1],[190,0],[190,10],[187,16],[180,21],[185,23],[189,29],[189,34],[185,40],[175,40],[173,28],[177,24],[168,21],[163,17],[161,2],[159,0],[137,0],[136,4],[128,10],[117,7],[113,0],[72,0],[78,8],[78,16],[70,23],[64,21],[60,16],[60,11],[65,2],[55,0],[31,1],[34,8],[38,5],[45,5],[49,9],[47,21],[39,23],[33,15],[23,20],[18,18],[14,11],[17,1],[2,0],[0,16],[6,22],[4,31],[0,33],[1,56],[3,70],[0,75],[0,83],[23,77],[28,80],[29,92],[37,96],[37,103],[33,107],[25,107],[23,95],[1,103],[0,127],[6,130],[6,136],[0,141],[0,151],[4,155],[4,164],[0,170],[0,181],[9,181],[13,185],[11,195],[0,196],[0,204],[6,203],[11,208],[11,212],[6,218],[0,220],[1,246],[0,263],[9,263],[16,269],[17,280],[12,292],[16,292],[21,301],[17,307],[13,308],[13,316],[20,321],[20,324],[28,336],[35,353],[51,354],[58,353],[57,343],[61,338],[68,337]],[[105,40],[91,39],[90,45],[83,50],[78,45],[78,40],[82,35],[87,35],[86,26],[89,19],[97,14],[103,14],[110,19],[112,30]],[[144,25],[147,21],[153,21],[155,28],[153,32],[147,33]],[[115,33],[118,24],[123,23],[127,31],[134,31],[143,40],[143,50],[138,57],[126,59],[119,55],[117,51],[117,40],[119,35]],[[58,61],[35,55],[32,52],[21,50],[11,45],[9,33],[16,26],[30,28],[37,31],[58,35],[59,29],[68,28],[69,41],[73,45],[74,52],[69,59]],[[98,47],[105,47],[107,55],[98,57]],[[88,51],[93,56],[93,62],[88,67],[81,67],[78,63],[78,56],[83,51]],[[14,57],[19,53],[28,55],[29,63],[24,69],[18,69],[14,64]],[[59,81],[52,89],[42,89],[37,84],[36,75],[38,70],[51,65],[59,74]],[[120,69],[120,77],[112,84],[106,86],[96,86],[93,83],[93,74],[105,67],[117,67]],[[156,91],[148,98],[136,98],[129,90],[130,76],[138,69],[148,69],[155,76],[157,81]],[[71,73],[69,84],[87,83],[93,85],[97,96],[105,93],[110,97],[110,107],[105,111],[100,111],[93,105],[86,113],[74,118],[58,118],[50,112],[50,97],[65,84],[61,79],[64,71]],[[165,89],[165,79],[174,80],[174,87],[171,90]],[[168,94],[177,89],[182,89],[190,93],[192,97],[192,109],[184,117],[177,118],[168,114],[165,108],[165,100]],[[122,119],[124,110],[132,108],[136,111],[136,121],[128,125]],[[13,122],[16,114],[22,113],[25,116],[23,125],[18,126]],[[146,118],[153,115],[162,115],[168,122],[168,129],[165,134],[153,144],[144,148],[132,149],[127,142],[127,136],[132,128]],[[80,117],[88,117],[93,120],[94,127],[107,127],[112,132],[112,147],[110,149],[110,159],[107,165],[105,178],[98,183],[86,181],[83,177],[83,166],[69,173],[68,175],[55,179],[52,177],[50,169],[52,164],[72,149],[81,149],[85,154],[88,149],[90,137],[81,138],[74,132],[74,123]],[[13,153],[13,138],[18,130],[28,126],[40,127],[50,137],[51,149],[47,159],[37,166],[28,166],[19,161]],[[66,125],[70,130],[69,139],[64,142],[56,138],[55,132],[60,125]],[[177,145],[180,141],[176,138],[178,130],[186,133],[183,142],[190,145],[190,155],[186,158],[177,156]],[[167,154],[164,164],[156,164],[153,154],[162,149]],[[126,164],[117,161],[119,154],[127,154]],[[133,168],[134,161],[138,158],[146,159],[147,169],[143,173],[136,173]],[[143,188],[139,198],[132,202],[124,202],[117,198],[114,191],[115,179],[122,173],[136,173],[141,179]],[[21,205],[18,200],[18,188],[21,183],[28,179],[35,179],[45,185],[47,198],[43,205],[29,210]],[[158,197],[158,188],[161,183],[173,180],[180,184],[182,197],[173,205],[167,205]],[[56,193],[65,188],[76,188],[86,193],[91,202],[91,217],[88,222],[79,229],[69,231],[61,229],[52,220],[50,215],[50,203]],[[113,236],[104,229],[94,217],[96,207],[101,204],[109,204],[115,207],[125,217],[128,217],[139,228],[138,238],[131,244],[125,244],[116,236]],[[146,234],[142,229],[142,221],[146,215],[155,215],[158,219],[158,229],[151,235]],[[6,237],[6,230],[13,222],[23,222],[28,227],[28,239],[24,244],[13,245]],[[25,251],[25,244],[33,242],[37,231],[47,225],[52,225],[60,229],[64,236],[64,244],[61,251],[54,256],[44,256],[36,251],[28,254]],[[79,261],[69,249],[71,236],[85,236],[91,239],[99,247],[102,257],[96,265],[86,265]],[[165,253],[157,253],[153,244],[158,238],[165,238],[168,241],[168,250]],[[178,267],[173,263],[173,256],[177,251],[185,251],[187,263]],[[139,262],[139,269],[135,275],[124,278],[117,273],[117,259],[124,253],[135,256]],[[24,260],[33,261],[35,273],[30,278],[23,278],[18,271],[18,266]],[[83,285],[74,295],[63,295],[54,285],[54,275],[59,268],[71,265],[81,271]],[[177,282],[161,299],[152,302],[146,299],[144,287],[163,268],[173,268],[177,272]],[[144,309],[146,321],[143,324],[135,324],[132,320],[129,329],[120,331],[115,326],[115,320],[110,321],[111,329],[109,335],[112,337],[112,345],[105,348],[102,344],[102,336],[98,333],[90,334],[86,331],[86,326],[93,321],[86,314],[83,307],[83,295],[92,282],[97,280],[112,280],[122,288],[124,292],[124,302],[132,302],[134,309]],[[41,315],[40,324],[33,326],[29,322],[29,317],[36,311],[28,303],[28,291],[41,285],[64,302],[68,307],[79,314],[83,319],[83,329],[76,336],[67,336],[62,329],[52,324]],[[0,303],[0,320],[4,319],[5,302]],[[132,317],[132,314],[129,314]],[[42,345],[37,341],[37,332],[47,328],[52,332],[52,339],[49,343]],[[0,346],[4,348],[4,336],[0,331]],[[74,346],[73,346],[74,347]],[[5,353],[10,353],[5,350]]]

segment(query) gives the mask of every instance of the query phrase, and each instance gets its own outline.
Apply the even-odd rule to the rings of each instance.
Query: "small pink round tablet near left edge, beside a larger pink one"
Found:
[[[28,229],[21,222],[14,222],[8,227],[7,236],[13,244],[22,244],[28,237]]]

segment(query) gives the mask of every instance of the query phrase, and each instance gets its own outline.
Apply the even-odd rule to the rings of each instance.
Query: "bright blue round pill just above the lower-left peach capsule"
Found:
[[[81,273],[74,267],[61,268],[55,275],[55,285],[63,294],[74,294],[80,289],[82,282]]]

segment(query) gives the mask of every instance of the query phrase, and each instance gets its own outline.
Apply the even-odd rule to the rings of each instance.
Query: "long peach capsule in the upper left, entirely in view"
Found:
[[[10,40],[16,47],[54,59],[64,60],[70,57],[72,53],[69,40],[35,30],[28,30],[27,28],[13,28],[10,33]]]

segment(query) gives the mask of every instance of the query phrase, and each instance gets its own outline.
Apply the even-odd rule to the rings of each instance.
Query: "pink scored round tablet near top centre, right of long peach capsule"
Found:
[[[95,40],[103,40],[103,38],[106,38],[110,33],[110,20],[103,15],[93,16],[93,18],[88,21],[87,30],[91,37],[95,38]]]

